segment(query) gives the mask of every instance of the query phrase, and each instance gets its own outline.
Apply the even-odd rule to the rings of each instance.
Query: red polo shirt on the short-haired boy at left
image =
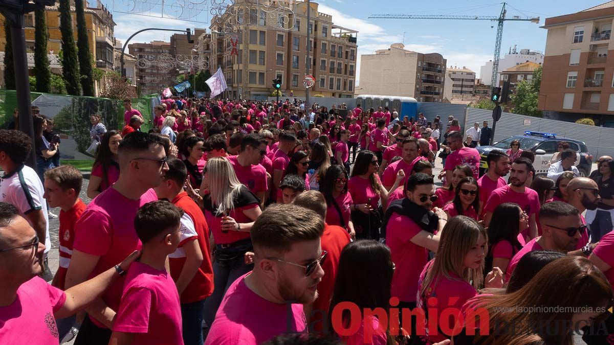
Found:
[[[66,281],[66,272],[68,271],[68,264],[71,262],[72,249],[74,244],[75,235],[75,223],[81,217],[85,211],[85,204],[81,199],[77,199],[71,209],[64,212],[60,211],[60,229],[58,230],[58,238],[60,239],[60,267],[58,267],[58,273],[56,273],[58,279],[58,288],[64,289],[64,282]]]

